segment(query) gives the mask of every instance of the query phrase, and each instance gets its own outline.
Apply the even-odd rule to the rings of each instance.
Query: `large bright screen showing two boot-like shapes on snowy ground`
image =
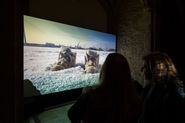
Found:
[[[24,15],[24,82],[41,95],[98,84],[116,36]]]

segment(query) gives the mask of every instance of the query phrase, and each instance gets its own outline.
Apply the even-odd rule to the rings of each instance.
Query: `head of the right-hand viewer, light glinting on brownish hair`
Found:
[[[144,56],[143,60],[149,80],[162,82],[177,76],[177,70],[172,59],[165,53],[150,53]]]

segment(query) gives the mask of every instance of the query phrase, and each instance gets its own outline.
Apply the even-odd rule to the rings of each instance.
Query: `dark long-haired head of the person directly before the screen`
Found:
[[[100,83],[110,88],[119,88],[131,81],[130,68],[126,58],[119,53],[107,56],[100,73]]]

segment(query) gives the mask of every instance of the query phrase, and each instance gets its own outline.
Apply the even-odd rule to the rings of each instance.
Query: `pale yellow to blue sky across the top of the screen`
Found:
[[[24,16],[24,31],[27,43],[116,48],[116,37],[112,34],[79,28],[31,16]]]

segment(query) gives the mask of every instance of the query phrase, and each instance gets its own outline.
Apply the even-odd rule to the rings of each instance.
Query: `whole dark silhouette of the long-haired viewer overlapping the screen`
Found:
[[[101,72],[100,85],[79,97],[69,109],[72,123],[136,123],[142,103],[124,56],[111,53]]]

